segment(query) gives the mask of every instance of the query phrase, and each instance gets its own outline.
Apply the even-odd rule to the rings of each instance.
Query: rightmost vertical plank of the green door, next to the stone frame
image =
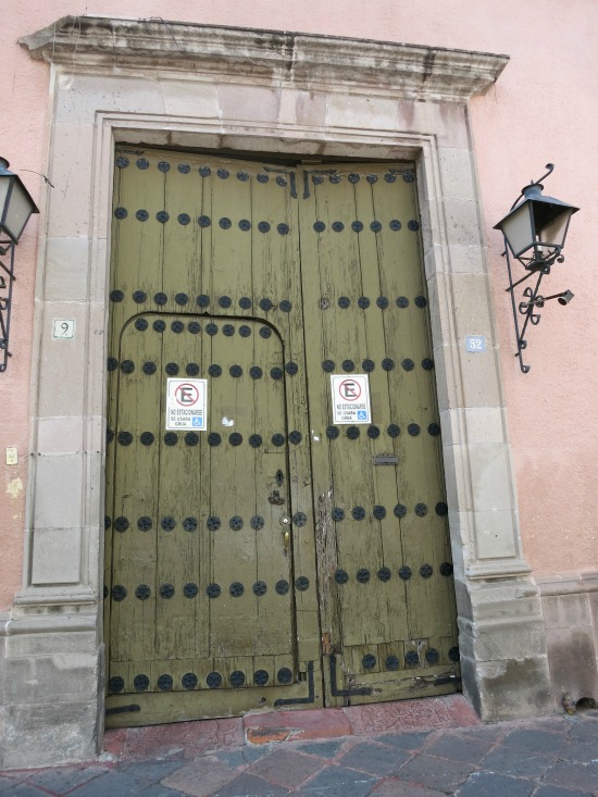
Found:
[[[400,209],[398,213],[401,216],[400,231],[395,231],[395,237],[390,242],[387,233],[381,234],[384,254],[382,262],[386,265],[387,273],[393,272],[390,266],[393,262],[408,264],[419,261],[419,236],[414,224],[418,221],[418,213],[412,187],[411,183],[397,180],[394,184],[381,184],[379,190],[376,186],[374,191],[375,203],[381,208],[376,213],[382,215],[383,227],[387,222],[384,217],[384,207],[389,204],[388,195],[395,189],[397,194],[395,207]],[[410,229],[410,225],[414,228]],[[437,423],[433,375],[422,366],[423,360],[431,356],[427,310],[424,303],[426,294],[421,269],[403,267],[401,277],[401,282],[395,283],[394,287],[397,291],[403,291],[402,295],[407,296],[410,303],[407,308],[398,308],[398,312],[394,315],[386,316],[391,322],[387,328],[387,350],[395,341],[394,359],[397,360],[397,365],[400,362],[400,368],[391,372],[395,384],[393,385],[391,381],[390,395],[395,401],[394,412],[397,418],[401,416],[402,427],[398,446],[403,463],[400,468],[399,502],[408,508],[408,515],[401,523],[403,551],[406,563],[409,563],[414,571],[409,584],[409,634],[412,637],[424,637],[447,628],[447,624],[453,622],[454,606],[450,599],[446,600],[448,596],[443,589],[443,584],[438,582],[438,568],[441,564],[439,559],[448,551],[447,536],[443,533],[444,530],[438,528],[438,519],[434,512],[434,507],[441,499],[444,490],[438,440],[428,432],[429,424]],[[393,277],[386,278],[390,284]],[[406,328],[406,320],[411,322],[409,329]],[[412,370],[404,368],[409,364],[406,360],[412,361]],[[418,435],[409,434],[409,425],[413,423],[420,426]],[[424,510],[421,505],[425,505],[426,509]],[[426,511],[427,514],[419,516],[419,510]],[[420,575],[420,568],[424,564],[434,568],[435,572],[431,578]]]

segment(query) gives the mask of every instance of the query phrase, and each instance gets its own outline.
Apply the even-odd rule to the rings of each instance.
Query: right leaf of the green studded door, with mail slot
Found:
[[[452,692],[459,650],[414,170],[331,164],[308,175],[301,265],[327,701]],[[335,423],[332,375],[353,397],[367,378],[371,419]]]

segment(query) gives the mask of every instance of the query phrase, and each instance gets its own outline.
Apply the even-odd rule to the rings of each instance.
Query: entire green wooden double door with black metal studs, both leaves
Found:
[[[117,152],[109,724],[454,688],[414,187]],[[332,375],[367,377],[371,418],[334,422]],[[166,428],[169,379],[204,425]]]

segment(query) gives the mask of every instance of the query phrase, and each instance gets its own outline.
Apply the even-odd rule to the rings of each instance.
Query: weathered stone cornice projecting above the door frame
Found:
[[[465,102],[497,80],[508,55],[336,36],[109,16],[64,16],[20,39],[32,58],[89,69],[175,70],[306,89],[366,88]]]

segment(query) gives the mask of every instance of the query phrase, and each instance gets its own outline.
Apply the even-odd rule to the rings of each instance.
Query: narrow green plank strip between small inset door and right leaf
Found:
[[[286,441],[289,474],[285,488],[286,503],[277,513],[292,519],[297,513],[306,515],[306,522],[287,526],[290,534],[288,561],[292,566],[289,581],[302,578],[307,589],[294,590],[297,612],[299,655],[312,657],[319,637],[317,593],[315,589],[314,535],[310,468],[310,424],[307,401],[307,375],[304,358],[301,272],[299,267],[299,206],[296,177],[292,170],[272,171],[265,166],[252,178],[253,190],[253,290],[257,300],[256,314],[267,320],[277,329],[283,343],[283,378],[277,381],[285,391]],[[267,177],[267,182],[265,180]],[[261,299],[258,299],[261,297]],[[271,301],[272,309],[262,300]],[[259,302],[259,303],[258,303]],[[270,377],[270,369],[267,371]],[[258,404],[258,412],[261,406]],[[264,407],[264,420],[272,420]],[[272,432],[276,432],[271,426]],[[300,440],[297,436],[300,435]],[[269,438],[271,436],[269,435]],[[298,441],[299,440],[299,441]],[[269,449],[272,450],[272,449]],[[269,454],[270,456],[270,454]],[[264,460],[267,464],[267,460]],[[284,530],[274,531],[274,548],[279,550]],[[276,555],[276,553],[275,553]],[[291,557],[292,555],[292,557]],[[272,618],[275,622],[275,617]]]

